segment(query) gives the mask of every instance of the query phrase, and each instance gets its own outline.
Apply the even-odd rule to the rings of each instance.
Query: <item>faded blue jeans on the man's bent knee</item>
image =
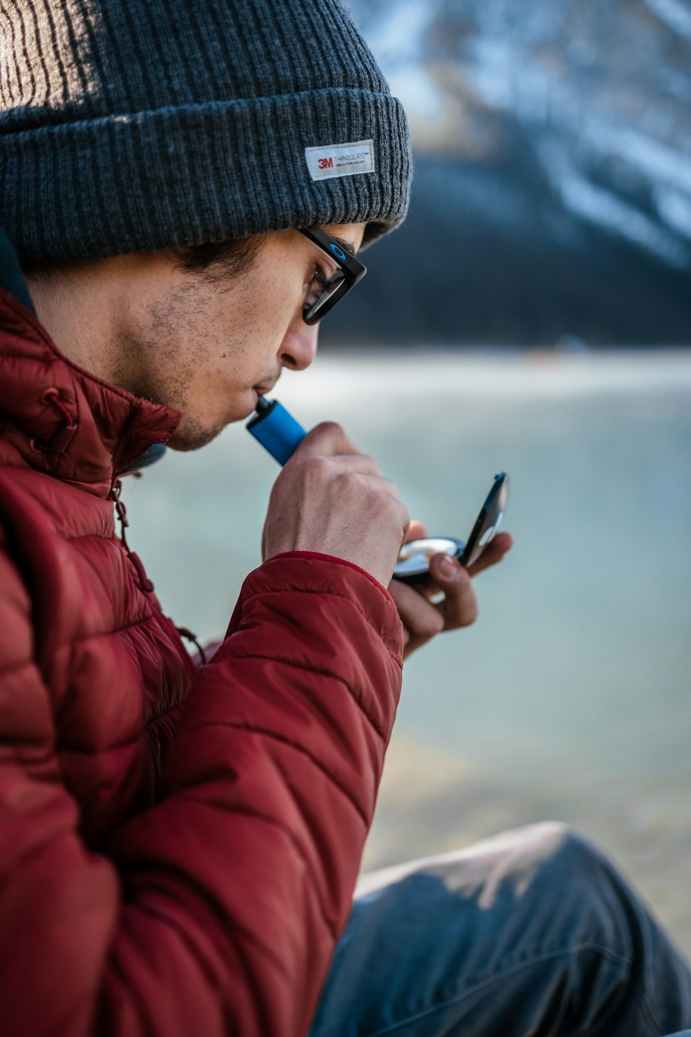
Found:
[[[601,850],[544,823],[363,876],[309,1037],[684,1028],[681,952]]]

